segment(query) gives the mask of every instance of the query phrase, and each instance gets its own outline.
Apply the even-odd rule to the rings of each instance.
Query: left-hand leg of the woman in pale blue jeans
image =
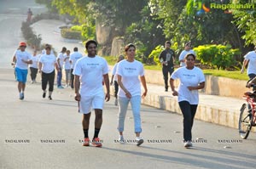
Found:
[[[123,135],[125,128],[125,115],[127,112],[127,107],[129,104],[129,99],[119,97],[119,122],[118,122],[118,130],[119,134]]]

